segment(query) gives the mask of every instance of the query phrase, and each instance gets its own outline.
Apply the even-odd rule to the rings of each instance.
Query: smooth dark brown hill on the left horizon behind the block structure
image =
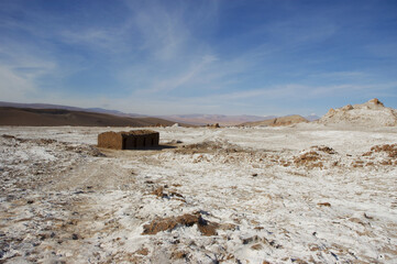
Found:
[[[117,117],[66,109],[0,107],[0,125],[152,127],[157,124],[173,125],[174,123],[158,118]]]

